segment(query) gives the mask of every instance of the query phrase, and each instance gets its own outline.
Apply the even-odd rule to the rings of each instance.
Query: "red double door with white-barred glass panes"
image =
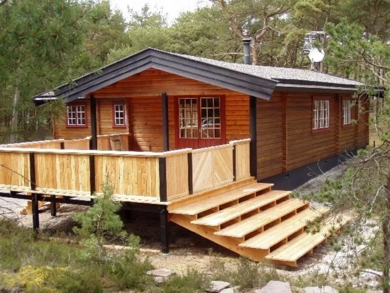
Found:
[[[176,149],[225,144],[225,96],[175,98]]]

